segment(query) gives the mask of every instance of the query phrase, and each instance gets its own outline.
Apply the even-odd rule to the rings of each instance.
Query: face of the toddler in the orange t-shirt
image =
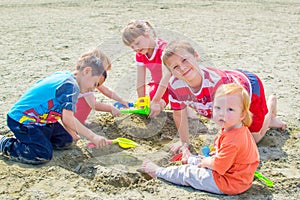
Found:
[[[242,124],[244,114],[240,95],[224,95],[216,97],[213,106],[214,121],[225,130],[237,128]]]

